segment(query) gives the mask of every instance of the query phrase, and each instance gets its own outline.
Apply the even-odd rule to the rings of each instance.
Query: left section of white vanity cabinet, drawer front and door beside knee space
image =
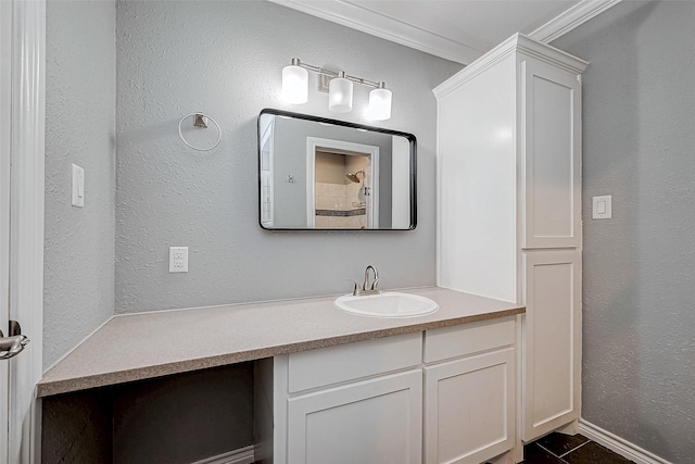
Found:
[[[422,334],[274,361],[275,464],[417,464]]]

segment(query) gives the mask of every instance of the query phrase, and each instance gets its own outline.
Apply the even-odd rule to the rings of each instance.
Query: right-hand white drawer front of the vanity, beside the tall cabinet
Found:
[[[438,328],[425,333],[425,362],[465,356],[514,344],[515,317]]]

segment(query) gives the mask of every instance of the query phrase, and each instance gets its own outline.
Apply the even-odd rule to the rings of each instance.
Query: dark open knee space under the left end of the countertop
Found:
[[[42,401],[46,464],[188,464],[249,444],[253,444],[253,363]]]

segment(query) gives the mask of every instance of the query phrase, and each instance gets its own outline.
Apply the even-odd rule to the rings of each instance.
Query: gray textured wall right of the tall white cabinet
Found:
[[[695,2],[622,2],[553,43],[591,61],[582,416],[674,463],[695,456],[693,25]]]

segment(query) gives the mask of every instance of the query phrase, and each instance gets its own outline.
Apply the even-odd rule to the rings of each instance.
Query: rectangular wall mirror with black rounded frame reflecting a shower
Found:
[[[412,134],[263,110],[258,116],[261,226],[413,229],[415,152]]]

